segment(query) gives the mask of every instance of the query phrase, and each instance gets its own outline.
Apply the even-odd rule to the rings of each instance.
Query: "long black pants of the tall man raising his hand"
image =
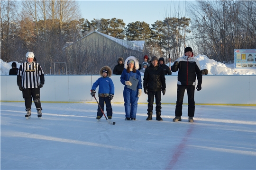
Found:
[[[182,116],[182,104],[183,104],[183,97],[185,93],[185,89],[187,89],[188,93],[188,116],[194,117],[195,114],[195,101],[194,101],[194,94],[195,94],[195,86],[194,85],[177,85],[177,102],[175,108],[175,116]]]

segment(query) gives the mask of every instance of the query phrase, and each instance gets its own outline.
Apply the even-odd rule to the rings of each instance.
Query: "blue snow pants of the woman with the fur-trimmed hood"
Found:
[[[137,106],[138,106],[138,90],[135,91],[129,88],[124,88],[124,105],[125,105],[125,117],[136,118]]]

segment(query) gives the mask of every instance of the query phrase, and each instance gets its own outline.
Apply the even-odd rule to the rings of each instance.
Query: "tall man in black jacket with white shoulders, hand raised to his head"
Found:
[[[199,61],[193,57],[193,51],[191,47],[186,47],[184,51],[184,55],[181,58],[178,58],[174,65],[171,67],[173,72],[179,70],[178,73],[178,90],[177,90],[177,102],[175,108],[175,118],[173,121],[181,121],[182,116],[182,104],[183,104],[183,96],[185,93],[185,89],[187,89],[188,93],[188,117],[189,122],[193,122],[193,117],[195,113],[195,101],[194,101],[194,93],[195,93],[195,85],[196,85],[196,77],[198,85],[196,86],[197,91],[201,90],[202,84],[202,72]]]

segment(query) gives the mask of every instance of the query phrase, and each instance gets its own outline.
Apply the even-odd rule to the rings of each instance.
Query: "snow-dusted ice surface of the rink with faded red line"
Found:
[[[175,105],[162,104],[164,121],[126,121],[123,104],[112,104],[113,119],[97,122],[95,103],[1,102],[1,170],[255,170],[255,106],[187,105],[173,122]],[[155,105],[154,105],[155,107]]]

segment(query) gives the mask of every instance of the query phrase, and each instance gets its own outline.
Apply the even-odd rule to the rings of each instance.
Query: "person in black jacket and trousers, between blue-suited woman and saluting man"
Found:
[[[155,96],[155,111],[156,120],[163,120],[161,118],[161,91],[165,95],[165,74],[164,69],[159,67],[157,57],[153,56],[151,65],[146,68],[143,78],[144,93],[147,94],[147,115],[146,120],[152,120],[153,103]]]

